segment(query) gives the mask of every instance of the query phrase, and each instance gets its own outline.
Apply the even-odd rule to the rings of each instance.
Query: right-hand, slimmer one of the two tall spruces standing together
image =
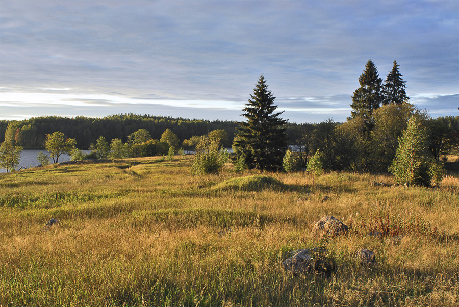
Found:
[[[398,63],[394,61],[392,71],[387,75],[384,86],[382,87],[382,94],[384,95],[383,105],[401,105],[403,101],[409,100],[405,93],[405,81],[398,71]]]

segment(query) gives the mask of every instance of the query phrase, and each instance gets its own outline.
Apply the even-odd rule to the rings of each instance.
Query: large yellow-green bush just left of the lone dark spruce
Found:
[[[215,139],[202,137],[196,146],[191,173],[194,175],[218,173],[228,161],[228,158],[230,158],[228,151],[223,148],[219,150],[218,142]]]

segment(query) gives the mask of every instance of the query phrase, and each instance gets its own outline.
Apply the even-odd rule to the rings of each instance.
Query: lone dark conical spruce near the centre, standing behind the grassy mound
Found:
[[[235,147],[246,157],[246,165],[260,171],[275,171],[282,167],[282,159],[287,149],[285,124],[279,118],[283,112],[274,113],[275,97],[268,90],[263,74],[253,89],[251,99],[242,110],[247,118],[237,128]]]

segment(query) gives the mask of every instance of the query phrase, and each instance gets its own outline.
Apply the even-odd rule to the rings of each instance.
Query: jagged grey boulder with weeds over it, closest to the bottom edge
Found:
[[[284,269],[294,274],[331,273],[335,263],[326,257],[324,248],[298,249],[290,252],[291,257],[282,262]]]

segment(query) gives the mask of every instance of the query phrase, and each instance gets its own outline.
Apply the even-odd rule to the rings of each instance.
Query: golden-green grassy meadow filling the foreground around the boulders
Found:
[[[190,164],[154,157],[0,174],[0,305],[459,304],[457,176],[435,189],[373,187],[394,179],[196,177]],[[325,215],[349,233],[311,237]],[[46,231],[50,218],[61,225]],[[397,235],[399,245],[386,242]],[[290,251],[318,246],[331,274],[284,270]],[[376,253],[375,267],[356,259],[361,248]]]

